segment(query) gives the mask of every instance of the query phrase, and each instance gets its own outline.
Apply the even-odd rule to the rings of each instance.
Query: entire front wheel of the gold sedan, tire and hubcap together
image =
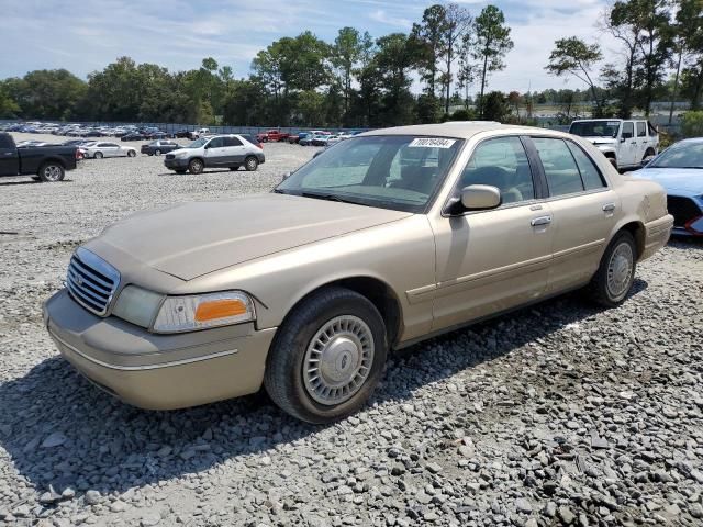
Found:
[[[323,424],[358,411],[383,372],[388,340],[376,306],[344,288],[313,293],[286,319],[264,384],[284,412]]]

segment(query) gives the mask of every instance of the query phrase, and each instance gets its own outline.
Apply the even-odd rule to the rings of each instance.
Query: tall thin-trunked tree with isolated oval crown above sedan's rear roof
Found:
[[[479,113],[483,116],[483,92],[486,81],[493,71],[505,69],[503,59],[513,48],[510,27],[505,25],[505,15],[495,5],[487,5],[473,21],[473,32],[467,37],[467,48],[471,49],[475,60],[479,61],[481,90]]]

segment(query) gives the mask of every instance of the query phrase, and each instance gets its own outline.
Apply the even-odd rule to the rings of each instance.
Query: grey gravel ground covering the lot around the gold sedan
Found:
[[[265,152],[254,173],[138,156],[0,180],[0,524],[703,525],[701,243],[644,262],[620,309],[567,295],[401,351],[333,426],[261,395],[145,412],[75,373],[41,323],[71,250],[136,210],[267,191],[314,149]]]

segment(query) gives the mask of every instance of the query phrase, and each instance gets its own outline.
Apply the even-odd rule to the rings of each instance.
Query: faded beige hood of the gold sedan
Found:
[[[311,198],[264,194],[140,212],[98,240],[182,280],[412,215]]]

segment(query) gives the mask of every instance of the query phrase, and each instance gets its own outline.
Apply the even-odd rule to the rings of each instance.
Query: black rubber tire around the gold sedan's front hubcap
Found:
[[[343,316],[366,324],[371,337],[372,359],[366,379],[353,394],[338,403],[323,404],[311,394],[303,378],[305,355],[319,332]],[[386,325],[376,306],[355,291],[326,288],[303,300],[281,325],[266,360],[264,385],[271,400],[293,417],[313,424],[332,423],[364,406],[381,379],[387,354]],[[346,368],[345,357],[341,357],[342,368]],[[348,360],[355,361],[354,358]]]

